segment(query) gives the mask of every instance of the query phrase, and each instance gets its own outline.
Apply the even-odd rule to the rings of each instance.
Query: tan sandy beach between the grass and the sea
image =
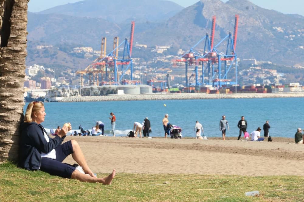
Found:
[[[93,172],[144,174],[301,175],[304,144],[292,138],[273,142],[128,137],[71,137]],[[73,164],[71,156],[65,163]]]

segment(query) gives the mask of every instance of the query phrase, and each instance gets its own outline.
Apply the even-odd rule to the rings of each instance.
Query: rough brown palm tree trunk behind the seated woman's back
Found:
[[[16,161],[18,157],[28,2],[0,0],[0,163]]]

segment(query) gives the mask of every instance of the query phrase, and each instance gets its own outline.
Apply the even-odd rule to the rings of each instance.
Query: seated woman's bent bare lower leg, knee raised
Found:
[[[89,174],[90,176],[96,178],[94,173],[90,170],[87,161],[85,161],[85,156],[83,155],[78,142],[76,140],[71,140],[71,141],[73,146],[73,153],[72,153],[73,159],[82,167],[83,171],[85,171],[86,174]]]

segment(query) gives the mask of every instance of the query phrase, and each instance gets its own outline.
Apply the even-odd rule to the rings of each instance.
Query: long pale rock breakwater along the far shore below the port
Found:
[[[237,98],[299,98],[304,93],[261,93],[261,94],[139,94],[139,95],[107,95],[66,97],[60,102],[88,102],[88,101],[131,101],[131,100],[195,100],[195,99],[237,99]]]

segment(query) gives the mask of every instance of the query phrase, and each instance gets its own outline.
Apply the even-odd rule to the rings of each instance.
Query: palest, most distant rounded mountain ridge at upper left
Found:
[[[182,6],[164,0],[87,0],[56,6],[38,14],[58,13],[76,17],[102,18],[109,22],[129,23],[159,21],[170,18],[183,9]]]

